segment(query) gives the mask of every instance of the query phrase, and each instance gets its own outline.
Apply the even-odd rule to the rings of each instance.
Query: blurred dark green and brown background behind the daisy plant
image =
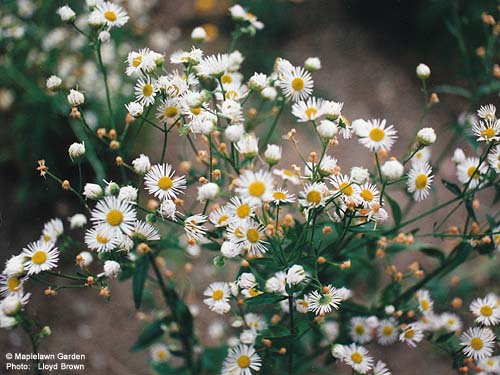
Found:
[[[92,77],[100,79],[95,64],[90,62],[92,52],[76,33],[61,31],[64,25],[55,10],[66,3],[75,10],[82,9],[80,1],[7,0],[0,5],[2,262],[37,239],[48,219],[78,212],[78,202],[72,196],[62,194],[58,186],[44,181],[35,170],[37,160],[45,159],[57,175],[74,178],[77,171],[67,157],[67,147],[74,142],[75,134],[84,136],[72,127],[64,100],[48,95],[45,80],[51,74],[58,74],[79,84],[84,91],[85,87],[99,87],[99,83],[92,80]],[[130,50],[148,46],[168,55],[177,49],[189,49],[191,30],[204,25],[212,39],[203,46],[208,54],[225,50],[232,30],[227,12],[230,1],[129,0],[120,3],[135,21],[127,30],[117,33],[114,46],[105,54],[110,81],[118,93],[114,98],[118,103],[115,108],[121,109],[116,111],[117,121],[123,121],[123,104],[130,98],[131,82],[123,83],[118,78],[124,75],[124,59]],[[495,41],[491,41],[491,27],[482,19],[483,12],[498,13],[497,1],[247,0],[240,4],[265,24],[264,30],[254,38],[243,39],[237,46],[246,56],[243,69],[246,77],[253,72],[270,71],[276,56],[297,65],[307,57],[319,57],[323,68],[314,76],[316,95],[344,102],[343,113],[350,120],[386,118],[394,124],[401,139],[395,155],[402,155],[412,142],[421,114],[423,96],[415,75],[418,63],[431,67],[430,90],[435,86],[440,98],[425,121],[426,126],[434,127],[439,135],[438,143],[432,147],[434,161],[441,150],[451,147],[450,140],[470,149],[467,139],[455,137],[461,114],[478,104],[498,104],[499,85],[492,74],[496,56],[484,53],[487,44]],[[127,33],[132,33],[133,38]],[[453,89],[456,86],[485,89],[480,95],[464,100],[460,92]],[[89,102],[94,108],[90,121],[98,127],[104,118],[104,107],[100,105],[104,103],[103,96],[89,97]],[[292,126],[292,121],[284,118],[280,124],[286,129]],[[301,142],[311,151],[315,147],[314,142],[307,143],[307,138]],[[137,152],[144,146],[152,150],[152,160],[160,153],[152,134],[143,134],[136,146]],[[175,156],[175,151],[172,153]],[[113,161],[98,162],[99,149],[90,150],[90,155],[84,173],[87,179],[100,180]],[[346,170],[369,163],[368,152],[352,154],[349,145],[339,146],[335,156]],[[455,172],[451,161],[443,159],[443,162],[442,177],[453,180]],[[426,204],[432,205],[445,194],[437,191],[434,201]],[[72,259],[66,262],[71,265]],[[205,285],[205,280],[213,276],[203,267],[209,262],[210,258],[203,257],[194,261],[200,272],[179,278]],[[470,272],[467,275],[472,277]],[[483,277],[484,283],[494,281],[488,279],[489,276]],[[136,319],[128,282],[114,283],[110,303],[94,290],[63,291],[57,297],[48,298],[36,286],[29,289],[36,301],[30,303],[30,313],[50,325],[54,332],[42,342],[42,353],[84,353],[87,355],[85,373],[127,375],[148,371],[148,353],[129,352],[142,322]],[[462,292],[465,290],[457,293]],[[191,299],[190,302],[203,308],[201,299],[196,300],[194,296]],[[215,316],[208,318],[215,319]],[[206,328],[202,326],[203,321],[200,329]],[[2,331],[0,352],[14,349],[27,352],[28,347],[19,330]],[[409,351],[402,345],[384,352],[373,350],[375,356],[388,363],[393,374],[430,373],[429,369],[435,374],[452,374],[448,359],[432,350]]]

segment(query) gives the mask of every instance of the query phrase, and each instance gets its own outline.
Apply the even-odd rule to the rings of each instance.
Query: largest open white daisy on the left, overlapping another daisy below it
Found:
[[[121,229],[129,234],[134,227],[137,212],[127,201],[117,197],[104,197],[91,211],[90,220],[96,225],[104,224],[110,229]]]

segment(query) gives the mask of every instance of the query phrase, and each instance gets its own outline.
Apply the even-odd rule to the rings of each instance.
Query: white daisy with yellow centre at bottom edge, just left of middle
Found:
[[[262,360],[253,346],[238,345],[231,348],[222,365],[221,375],[252,375],[259,371]]]

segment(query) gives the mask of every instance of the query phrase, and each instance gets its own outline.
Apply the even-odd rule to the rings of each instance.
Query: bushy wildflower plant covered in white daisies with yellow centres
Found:
[[[87,96],[93,87],[57,91],[74,126],[86,132],[85,142],[69,146],[69,157],[78,169],[88,167],[92,145],[104,165],[115,166],[106,170],[106,180],[83,181],[80,173],[70,181],[58,175],[57,165],[39,160],[44,180],[72,194],[81,211],[69,225],[61,218],[48,221],[40,238],[7,261],[3,328],[26,331],[36,351],[48,330],[30,317],[31,282],[45,284],[48,296],[89,288],[112,303],[113,279],[131,279],[136,308],[151,317],[132,350],[149,348],[159,374],[299,374],[337,365],[356,374],[390,374],[368,346],[415,348],[424,340],[447,352],[456,369],[499,373],[498,295],[476,298],[470,312],[459,310],[462,301],[454,299],[453,312],[430,289],[466,261],[487,262],[485,255],[500,250],[499,212],[482,217],[477,198],[489,192],[481,200],[498,200],[500,120],[493,105],[477,108],[467,129],[474,142],[468,156],[461,149],[442,151],[438,160],[452,157],[456,164],[456,180],[447,181],[429,157],[437,135],[424,121],[437,96],[428,94],[431,73],[423,64],[416,71],[423,114],[406,153],[394,155],[394,145],[403,141],[397,125],[350,121],[344,103],[314,96],[318,58],[304,66],[277,58],[272,71],[245,77],[237,43],[264,25],[239,5],[230,8],[236,29],[228,52],[206,55],[198,44],[168,57],[150,48],[129,51],[123,75],[135,84],[123,107],[113,102],[99,48],[129,22],[125,9],[97,1],[81,14],[64,6],[58,15],[95,46],[109,114],[92,129]],[[86,17],[86,26],[76,17]],[[195,42],[204,39],[200,30],[193,35]],[[64,84],[47,78],[50,86]],[[287,112],[296,128],[283,128]],[[146,127],[160,140],[158,153],[136,143]],[[172,150],[174,138],[178,147]],[[306,154],[306,141],[317,148]],[[340,143],[368,150],[371,159],[349,171],[336,157]],[[436,185],[451,198],[413,213]],[[394,193],[406,195],[407,207]],[[446,229],[462,208],[463,227]],[[436,219],[438,213],[444,214]],[[432,231],[422,233],[418,225],[431,215]],[[83,238],[77,228],[85,230]],[[399,253],[416,252],[421,257],[407,269],[395,265]],[[209,255],[199,262],[209,260],[217,277],[199,286],[193,303],[196,291],[180,286],[187,276],[167,268],[166,259],[187,259],[189,270],[190,259],[202,253]],[[62,254],[75,259],[69,273],[66,267],[62,272]],[[379,285],[380,269],[389,277]],[[372,290],[359,290],[363,281],[373,283]],[[158,298],[144,301],[146,290]],[[208,332],[218,345],[207,346],[204,327],[196,324],[202,308],[210,310]]]

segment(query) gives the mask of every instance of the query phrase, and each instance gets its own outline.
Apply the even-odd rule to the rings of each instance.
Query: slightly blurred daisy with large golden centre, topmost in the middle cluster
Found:
[[[264,170],[257,172],[245,170],[240,175],[235,191],[242,198],[248,199],[250,204],[261,204],[263,201],[272,199],[273,184],[271,173]]]

